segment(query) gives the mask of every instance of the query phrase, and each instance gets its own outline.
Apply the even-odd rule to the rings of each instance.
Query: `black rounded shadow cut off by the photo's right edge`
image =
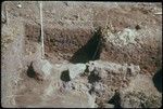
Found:
[[[162,69],[156,71],[152,80],[153,80],[154,86],[158,88],[159,92],[162,93]]]

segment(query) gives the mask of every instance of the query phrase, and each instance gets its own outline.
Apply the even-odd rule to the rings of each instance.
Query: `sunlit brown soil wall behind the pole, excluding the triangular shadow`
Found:
[[[27,24],[25,28],[26,28],[25,35],[27,40],[32,42],[40,42],[39,26]],[[93,49],[96,42],[98,41],[98,38],[93,38],[95,40],[92,40],[92,38],[93,38],[93,33],[92,30],[90,29],[45,28],[46,56],[52,57],[52,56],[60,55],[62,59],[75,62],[74,57],[77,58],[79,55],[78,54],[75,56],[73,55],[78,53],[78,51],[84,50],[84,53],[86,53],[86,57],[88,57],[89,55],[87,54],[88,50],[90,47]],[[88,45],[89,49],[87,50],[85,45],[87,46],[88,43],[89,43]],[[92,55],[91,52],[90,55]]]

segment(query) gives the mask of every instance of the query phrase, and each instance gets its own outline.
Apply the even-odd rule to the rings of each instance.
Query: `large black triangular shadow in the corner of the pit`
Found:
[[[101,52],[101,28],[99,28],[92,38],[77,52],[74,53],[71,63],[87,63],[89,60],[99,59]]]

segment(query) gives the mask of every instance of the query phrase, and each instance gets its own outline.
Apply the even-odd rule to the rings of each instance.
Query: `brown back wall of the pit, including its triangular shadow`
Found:
[[[27,24],[26,39],[40,43],[40,27]],[[91,29],[45,28],[45,52],[47,58],[87,63],[100,58],[101,31]]]

